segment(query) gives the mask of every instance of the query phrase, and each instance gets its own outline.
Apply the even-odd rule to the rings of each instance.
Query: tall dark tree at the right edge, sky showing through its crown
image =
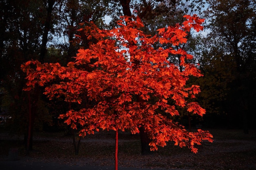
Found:
[[[209,7],[205,13],[209,34],[204,41],[200,40],[206,43],[199,45],[202,47],[201,70],[205,74],[200,84],[204,89],[204,100],[211,105],[209,107],[221,109],[206,108],[213,112],[224,112],[230,127],[240,128],[243,124],[244,132],[248,133],[248,125],[255,120],[252,103],[255,102],[256,85],[256,3],[254,0],[207,2]],[[241,114],[243,122],[240,121]]]

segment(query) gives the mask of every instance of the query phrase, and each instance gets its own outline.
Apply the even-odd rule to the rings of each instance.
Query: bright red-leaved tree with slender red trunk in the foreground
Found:
[[[97,41],[92,41],[89,49],[79,49],[75,62],[66,67],[38,61],[22,65],[27,73],[25,90],[29,91],[39,84],[45,86],[44,94],[50,99],[65,96],[67,102],[79,104],[89,99],[84,108],[69,110],[60,117],[65,118],[72,128],[78,125],[83,127],[80,136],[93,134],[99,128],[115,130],[116,169],[118,130],[129,129],[135,134],[143,126],[152,140],[151,150],[165,146],[166,141],[174,141],[175,145],[187,146],[196,153],[195,146],[200,145],[202,140],[212,141],[212,135],[203,130],[188,132],[169,117],[179,115],[177,106],[193,114],[202,116],[205,113],[198,103],[188,102],[200,92],[199,86],[186,86],[190,76],[202,75],[195,65],[185,62],[193,58],[186,51],[155,47],[166,43],[173,46],[186,43],[186,35],[191,28],[202,30],[200,24],[203,19],[196,15],[184,17],[186,21],[182,25],[159,29],[154,36],[139,30],[143,26],[139,18],[130,20],[122,17],[118,21],[119,27],[112,30],[101,30],[90,23],[79,31],[88,40]],[[170,54],[181,56],[182,72],[168,61]],[[55,79],[59,83],[51,83]],[[143,100],[138,100],[136,96]],[[170,104],[168,100],[175,104]]]

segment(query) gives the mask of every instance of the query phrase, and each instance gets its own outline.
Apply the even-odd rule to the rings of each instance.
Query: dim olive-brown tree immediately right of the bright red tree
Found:
[[[198,44],[198,42],[202,42]],[[194,44],[193,44],[194,43]],[[213,40],[211,36],[205,38],[197,36],[192,42],[194,55],[200,63],[203,77],[193,79],[202,91],[198,95],[198,101],[206,108],[204,126],[208,128],[227,127],[227,98],[230,91],[229,84],[234,80],[232,68],[235,63],[228,54],[225,42],[222,39]]]

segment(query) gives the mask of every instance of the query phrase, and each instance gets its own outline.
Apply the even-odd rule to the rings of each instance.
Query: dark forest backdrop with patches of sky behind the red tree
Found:
[[[109,29],[117,26],[119,16],[135,14],[145,24],[143,31],[154,35],[194,13],[205,18],[205,31],[191,31],[189,42],[177,48],[195,56],[188,62],[200,64],[204,76],[191,77],[189,83],[200,85],[197,99],[207,113],[201,118],[180,110],[174,119],[186,128],[202,125],[249,133],[256,128],[255,0],[0,0],[1,128],[25,140],[28,134],[32,140],[34,130],[68,129],[58,116],[69,106],[61,99],[49,101],[40,88],[22,91],[25,74],[20,65],[32,59],[65,66],[89,43],[74,42],[79,23],[93,21]],[[179,62],[175,56],[170,60]]]

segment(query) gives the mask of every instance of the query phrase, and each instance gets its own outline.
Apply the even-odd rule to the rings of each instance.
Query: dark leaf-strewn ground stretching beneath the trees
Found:
[[[139,135],[119,132],[119,170],[135,168],[186,169],[186,170],[255,170],[256,169],[256,130],[249,135],[243,130],[209,129],[214,141],[203,142],[197,154],[188,148],[173,146],[170,142],[159,148],[153,155],[140,154]],[[0,133],[0,163],[10,163],[9,148],[18,148],[17,163],[44,163],[44,166],[65,166],[69,170],[89,167],[88,170],[112,169],[114,166],[115,133],[97,132],[82,139],[79,155],[74,155],[72,137],[64,132],[36,132],[34,150],[25,154],[22,137]],[[43,166],[42,166],[43,167]],[[93,169],[93,167],[95,169]],[[126,169],[126,168],[128,169]],[[105,168],[105,169],[104,169]],[[43,170],[43,168],[40,168]],[[49,168],[47,168],[49,169]],[[56,168],[55,168],[56,169]],[[63,167],[61,169],[64,169]],[[6,169],[7,170],[7,169]],[[9,170],[9,169],[8,169]],[[85,168],[86,170],[86,168]]]

